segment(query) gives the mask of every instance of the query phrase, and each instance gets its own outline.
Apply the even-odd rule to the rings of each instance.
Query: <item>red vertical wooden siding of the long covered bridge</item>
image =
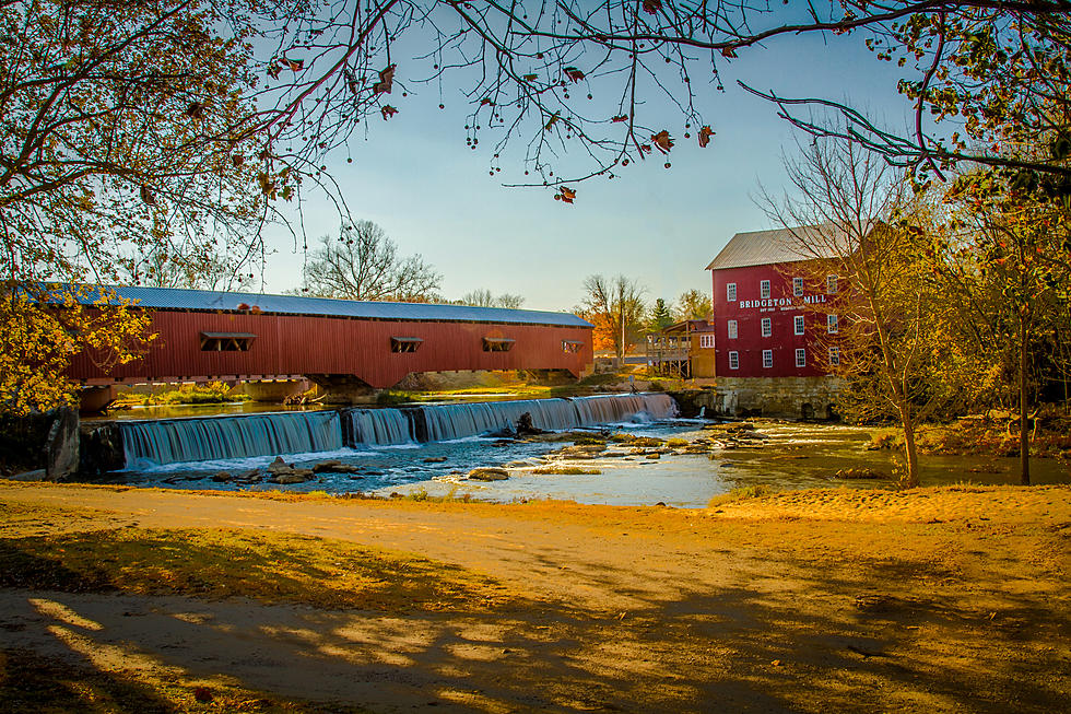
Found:
[[[97,384],[353,375],[372,387],[387,388],[413,372],[566,370],[579,376],[593,362],[591,328],[584,327],[156,311],[153,331],[158,337],[141,360],[106,374],[80,354],[69,375]],[[201,332],[249,332],[257,338],[245,352],[205,352]],[[415,352],[392,352],[391,337],[415,337],[423,343]],[[484,337],[515,343],[508,352],[485,352]],[[582,346],[568,353],[564,340]]]

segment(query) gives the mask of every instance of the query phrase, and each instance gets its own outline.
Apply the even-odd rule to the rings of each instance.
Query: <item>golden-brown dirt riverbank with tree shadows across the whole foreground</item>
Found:
[[[27,577],[82,584],[0,589],[8,702],[35,671],[105,678],[85,695],[161,711],[1047,712],[1071,697],[1066,485],[675,510],[0,482],[0,508]],[[72,581],[86,539],[233,549],[242,566],[190,586],[180,561],[113,543],[95,572],[118,580]],[[287,539],[292,554],[272,546]],[[314,562],[305,589],[450,594],[303,601],[287,574],[318,539],[338,560]],[[387,565],[357,577],[348,548]],[[208,590],[236,570],[242,598]]]

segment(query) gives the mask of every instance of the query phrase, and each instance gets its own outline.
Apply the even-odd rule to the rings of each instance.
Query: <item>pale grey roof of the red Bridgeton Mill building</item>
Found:
[[[767,266],[833,258],[843,232],[832,224],[738,233],[707,266],[707,270]]]

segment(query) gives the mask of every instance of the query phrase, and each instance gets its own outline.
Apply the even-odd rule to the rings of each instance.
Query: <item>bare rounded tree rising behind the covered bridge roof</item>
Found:
[[[424,303],[438,296],[443,277],[419,256],[402,258],[372,221],[323,236],[309,254],[303,292],[320,297]]]

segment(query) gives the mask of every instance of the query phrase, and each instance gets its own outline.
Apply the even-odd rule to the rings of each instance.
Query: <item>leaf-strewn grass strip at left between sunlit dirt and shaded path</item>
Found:
[[[487,610],[513,599],[490,577],[405,552],[223,528],[0,540],[0,587],[247,597],[385,611]]]

